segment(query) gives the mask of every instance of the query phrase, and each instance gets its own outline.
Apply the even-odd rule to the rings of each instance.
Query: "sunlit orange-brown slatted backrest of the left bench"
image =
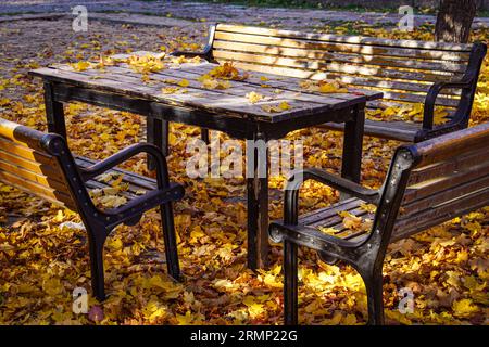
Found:
[[[0,118],[0,181],[76,210],[60,157],[50,151],[57,137]]]

